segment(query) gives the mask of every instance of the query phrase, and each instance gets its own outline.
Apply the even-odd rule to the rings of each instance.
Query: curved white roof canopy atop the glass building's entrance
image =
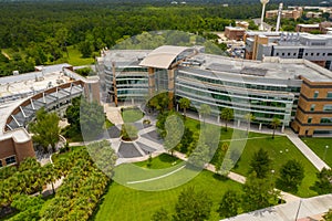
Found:
[[[141,66],[169,69],[174,60],[185,51],[193,52],[194,49],[186,46],[164,45],[152,51],[141,63]]]

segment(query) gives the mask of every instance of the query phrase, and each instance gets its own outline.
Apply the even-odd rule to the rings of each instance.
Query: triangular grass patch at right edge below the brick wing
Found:
[[[321,159],[332,167],[332,138],[302,138],[302,140],[310,147]],[[326,149],[326,146],[329,148]],[[325,154],[326,152],[326,154]]]

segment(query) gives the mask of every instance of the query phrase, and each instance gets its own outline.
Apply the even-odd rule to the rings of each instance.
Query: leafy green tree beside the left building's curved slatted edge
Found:
[[[33,140],[40,144],[44,151],[48,151],[49,145],[55,151],[55,144],[59,141],[60,127],[56,113],[46,113],[44,108],[37,112],[35,123],[30,124],[30,130],[33,133]]]

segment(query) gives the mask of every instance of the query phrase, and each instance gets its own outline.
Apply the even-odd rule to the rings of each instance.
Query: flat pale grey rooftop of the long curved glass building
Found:
[[[168,48],[168,46],[167,46]],[[163,48],[162,51],[167,48]],[[149,52],[153,54],[158,54],[155,51],[112,51],[110,56],[106,59],[108,61],[115,61],[117,64],[126,61],[126,64],[134,64],[137,63],[137,57],[141,60],[146,61],[144,62],[144,66],[151,65],[152,67],[159,67],[159,69],[168,69],[169,62],[172,57],[173,60],[177,56],[177,53],[181,53],[183,50],[187,50],[188,48],[179,48],[176,46],[168,48],[172,51],[167,55],[167,59],[163,61],[163,57],[158,57],[155,60],[154,56],[149,56]],[[177,52],[177,53],[176,53]],[[146,57],[144,57],[144,55]],[[169,57],[168,57],[169,56]],[[153,59],[149,59],[153,57]],[[118,60],[116,60],[118,59]],[[173,61],[172,60],[172,61]],[[148,61],[148,62],[147,62]],[[157,62],[156,64],[154,62]],[[160,65],[163,64],[163,65]],[[196,65],[190,65],[196,64]],[[199,64],[199,65],[197,65]],[[107,64],[106,64],[107,65]],[[142,62],[141,62],[142,65]],[[162,67],[163,66],[163,67]],[[205,54],[198,53],[195,56],[188,59],[186,62],[181,64],[181,66],[191,66],[190,70],[200,70],[201,73],[204,70],[207,72],[216,72],[220,75],[235,75],[250,78],[255,81],[255,78],[266,78],[268,80],[300,80],[299,76],[302,75],[309,81],[313,82],[332,82],[332,72],[325,70],[314,63],[311,63],[305,60],[286,60],[279,57],[266,57],[263,62],[260,61],[249,61],[249,60],[239,60],[239,59],[231,59],[220,55],[212,55],[212,54]]]

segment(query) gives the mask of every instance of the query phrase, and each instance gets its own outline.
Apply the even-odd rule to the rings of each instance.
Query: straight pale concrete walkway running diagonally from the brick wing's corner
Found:
[[[286,129],[287,137],[298,147],[298,149],[307,157],[311,164],[318,169],[322,170],[324,167],[330,167],[319,158],[291,129]]]

